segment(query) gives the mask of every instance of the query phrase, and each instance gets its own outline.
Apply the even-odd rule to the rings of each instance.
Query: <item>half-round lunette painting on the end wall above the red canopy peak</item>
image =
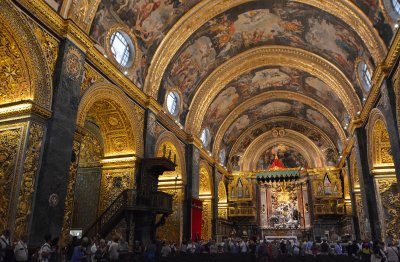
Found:
[[[304,156],[291,146],[279,143],[265,150],[257,161],[257,170],[266,170],[275,158],[278,158],[286,168],[308,167]]]

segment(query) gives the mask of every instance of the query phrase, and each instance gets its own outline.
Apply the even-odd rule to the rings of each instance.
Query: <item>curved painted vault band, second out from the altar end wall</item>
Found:
[[[342,149],[338,133],[325,116],[301,102],[285,99],[277,99],[272,102],[264,101],[245,110],[232,121],[232,124],[226,130],[225,134],[223,134],[220,147],[227,148],[234,144],[237,137],[252,123],[276,116],[290,116],[312,123],[326,132],[339,151]],[[211,137],[215,136],[218,128],[210,128]],[[213,143],[214,141],[211,140],[211,142]]]

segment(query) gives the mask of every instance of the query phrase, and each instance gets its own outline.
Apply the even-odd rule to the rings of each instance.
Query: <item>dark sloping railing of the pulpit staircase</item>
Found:
[[[93,236],[96,233],[102,232],[108,223],[116,219],[117,216],[126,207],[133,207],[136,205],[136,190],[126,189],[104,210],[104,212],[96,219],[96,221],[86,230],[85,236]]]

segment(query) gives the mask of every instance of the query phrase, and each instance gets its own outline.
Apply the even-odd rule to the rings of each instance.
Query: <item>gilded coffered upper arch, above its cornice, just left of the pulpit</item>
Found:
[[[77,125],[84,127],[88,116],[102,127],[105,156],[143,154],[143,114],[118,87],[91,86],[81,99]]]

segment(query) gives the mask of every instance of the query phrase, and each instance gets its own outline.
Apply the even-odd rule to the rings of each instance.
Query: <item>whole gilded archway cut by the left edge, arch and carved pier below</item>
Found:
[[[0,10],[0,228],[17,239],[29,230],[44,144],[45,126],[31,116],[50,115],[53,81],[28,18],[12,1]]]

